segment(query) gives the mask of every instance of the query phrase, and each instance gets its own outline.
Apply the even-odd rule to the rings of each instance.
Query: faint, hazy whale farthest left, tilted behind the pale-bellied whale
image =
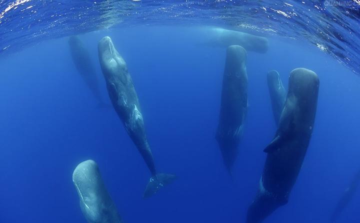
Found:
[[[98,101],[98,105],[101,107],[106,106],[101,97],[98,78],[88,50],[77,36],[70,36],[68,44],[70,46],[72,60],[77,71],[80,73],[82,79],[85,81],[86,85]]]

